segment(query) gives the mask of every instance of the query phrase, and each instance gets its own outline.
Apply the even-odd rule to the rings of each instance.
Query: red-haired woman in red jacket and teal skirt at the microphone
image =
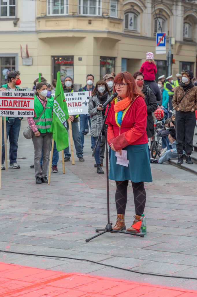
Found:
[[[146,191],[144,181],[151,182],[151,168],[148,158],[148,137],[146,134],[147,108],[144,94],[139,90],[129,72],[121,72],[114,79],[117,98],[112,101],[106,119],[108,143],[112,149],[109,178],[116,181],[117,221],[113,230],[125,230],[125,210],[129,180],[133,187],[135,215],[133,224],[144,213]],[[127,152],[128,166],[117,164],[116,152]],[[131,225],[133,225],[131,224]],[[136,233],[133,227],[128,232]]]

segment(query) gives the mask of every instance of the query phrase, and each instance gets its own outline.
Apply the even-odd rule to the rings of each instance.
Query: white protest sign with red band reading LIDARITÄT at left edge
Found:
[[[0,91],[0,116],[33,117],[34,92],[24,89]]]

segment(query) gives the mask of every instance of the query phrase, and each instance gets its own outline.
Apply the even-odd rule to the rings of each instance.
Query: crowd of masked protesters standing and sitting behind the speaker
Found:
[[[183,163],[183,155],[186,155],[186,162],[193,164],[190,155],[193,150],[193,135],[196,125],[196,113],[197,110],[197,80],[193,78],[193,72],[190,70],[184,70],[181,73],[176,74],[176,80],[173,80],[173,76],[170,75],[165,78],[165,75],[161,75],[156,82],[155,75],[157,73],[156,63],[154,61],[153,53],[146,54],[146,61],[142,64],[138,72],[133,73],[133,78],[137,84],[139,91],[144,95],[144,100],[147,107],[147,126],[146,133],[149,140],[154,136],[154,124],[155,117],[154,112],[158,108],[168,110],[169,119],[165,121],[164,127],[159,131],[158,136],[162,137],[162,154],[160,159],[151,159],[150,148],[148,147],[148,154],[151,163],[163,163],[170,158],[178,157],[178,164]],[[82,115],[70,115],[67,121],[67,127],[72,125],[72,136],[75,145],[76,155],[80,162],[84,162],[83,149],[84,149],[84,135],[88,133],[90,127],[91,135],[91,149],[93,150],[96,141],[98,140],[100,128],[105,115],[106,108],[101,108],[101,105],[106,102],[110,95],[114,91],[114,78],[115,73],[107,73],[102,80],[97,81],[94,84],[94,76],[88,74],[86,76],[85,85],[78,91],[91,91],[92,96],[89,99],[88,114]],[[0,87],[0,90],[19,88],[20,72],[11,71],[7,75],[7,84]],[[34,168],[35,177],[37,183],[48,182],[46,178],[46,172],[49,165],[49,154],[51,148],[51,133],[50,129],[42,131],[39,128],[39,122],[35,124],[36,119],[40,115],[40,110],[44,109],[48,102],[52,102],[52,95],[55,94],[56,80],[52,81],[50,85],[47,80],[41,76],[41,82],[38,82],[39,78],[34,81],[33,91],[35,91],[37,111],[34,110],[34,118],[28,118],[28,123],[33,130],[33,145],[35,149],[34,165],[30,165],[30,168]],[[75,92],[73,78],[71,76],[65,76],[62,78],[62,87],[64,93]],[[41,103],[42,108],[39,109]],[[39,111],[38,111],[39,110]],[[174,110],[174,112],[172,111]],[[51,110],[52,111],[52,110]],[[171,117],[172,116],[172,117]],[[42,117],[41,117],[42,118]],[[49,117],[52,121],[52,114]],[[20,124],[22,117],[7,117],[7,139],[9,137],[10,149],[9,149],[9,168],[19,169],[20,165],[17,164],[17,148],[18,137],[20,132]],[[42,121],[42,119],[40,119]],[[89,127],[88,127],[89,123]],[[41,125],[40,125],[41,126]],[[50,126],[50,123],[49,123]],[[39,136],[39,137],[38,137]],[[40,139],[42,136],[42,140]],[[39,138],[39,139],[38,139]],[[46,153],[47,152],[47,153]],[[97,168],[98,174],[103,174],[102,169],[105,152],[105,133],[101,134],[99,144],[95,152],[94,166]],[[111,148],[109,148],[109,156],[111,154]],[[70,161],[69,147],[64,149],[64,161]],[[1,170],[4,170],[4,129],[2,130],[2,164]],[[56,143],[54,143],[54,152],[52,159],[52,172],[57,173],[57,164],[59,160],[59,152],[56,149]],[[45,180],[45,181],[44,181]]]

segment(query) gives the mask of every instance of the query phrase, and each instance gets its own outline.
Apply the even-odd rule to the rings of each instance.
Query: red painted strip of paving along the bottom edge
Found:
[[[197,291],[0,263],[0,297],[196,297]]]

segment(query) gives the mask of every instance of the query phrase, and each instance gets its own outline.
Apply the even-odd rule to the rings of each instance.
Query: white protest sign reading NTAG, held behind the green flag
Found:
[[[64,93],[69,115],[88,113],[88,102],[91,96],[91,91]]]

